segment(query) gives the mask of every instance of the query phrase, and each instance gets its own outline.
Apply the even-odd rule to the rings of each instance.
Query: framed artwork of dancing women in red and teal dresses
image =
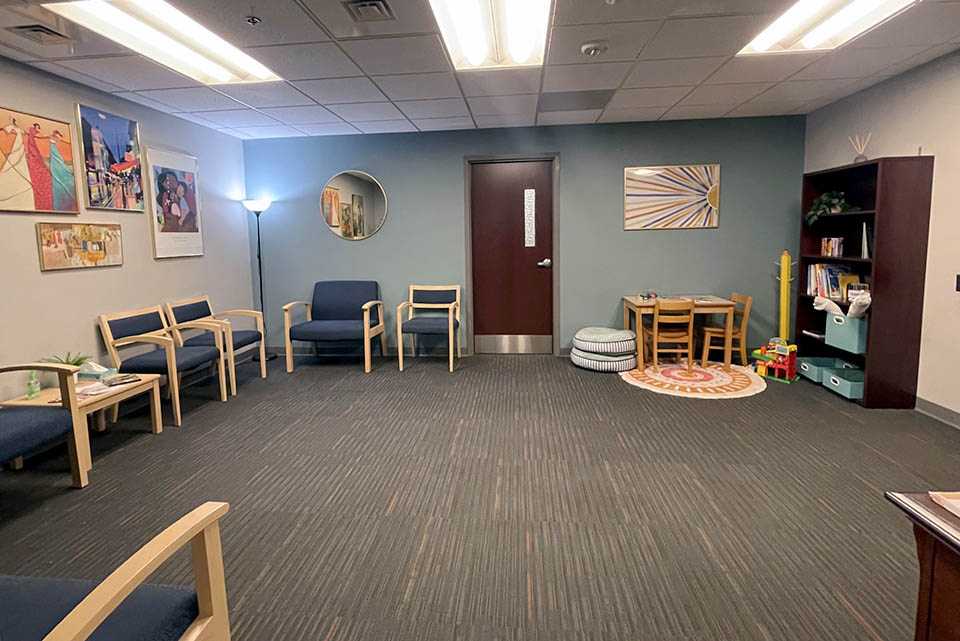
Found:
[[[0,211],[80,213],[69,123],[0,107]]]

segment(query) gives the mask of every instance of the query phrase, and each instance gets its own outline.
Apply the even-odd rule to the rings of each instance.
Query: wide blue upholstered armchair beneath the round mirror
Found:
[[[313,286],[313,301],[283,306],[283,329],[287,348],[287,371],[293,371],[293,341],[354,343],[363,341],[363,371],[370,371],[370,339],[380,336],[380,350],[387,355],[380,284],[375,280],[327,280]],[[291,323],[297,305],[307,310],[307,320]]]

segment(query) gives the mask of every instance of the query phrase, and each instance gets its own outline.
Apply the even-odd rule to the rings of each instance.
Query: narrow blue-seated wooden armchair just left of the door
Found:
[[[443,311],[444,314],[414,316],[416,309]],[[403,320],[403,312],[407,320]],[[446,334],[450,371],[453,371],[453,344],[460,356],[460,285],[410,285],[410,299],[397,307],[397,350],[403,371],[403,334],[413,334],[413,355],[417,355],[417,334]]]

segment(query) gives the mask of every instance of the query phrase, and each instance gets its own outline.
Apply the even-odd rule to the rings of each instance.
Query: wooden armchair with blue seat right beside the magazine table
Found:
[[[173,402],[173,424],[180,425],[180,378],[204,366],[215,366],[220,375],[220,400],[227,400],[227,383],[223,368],[223,333],[225,323],[219,320],[194,320],[168,325],[159,305],[132,312],[102,314],[100,331],[113,366],[131,374],[161,374],[167,377],[167,390]],[[214,345],[178,345],[173,332],[182,329],[203,329],[211,332]],[[119,347],[147,343],[157,349],[128,358],[121,358]],[[116,408],[114,408],[116,418]]]

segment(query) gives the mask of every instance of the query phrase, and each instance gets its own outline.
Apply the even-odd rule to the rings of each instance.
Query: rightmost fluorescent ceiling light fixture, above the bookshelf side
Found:
[[[922,0],[799,0],[737,55],[836,49]]]

